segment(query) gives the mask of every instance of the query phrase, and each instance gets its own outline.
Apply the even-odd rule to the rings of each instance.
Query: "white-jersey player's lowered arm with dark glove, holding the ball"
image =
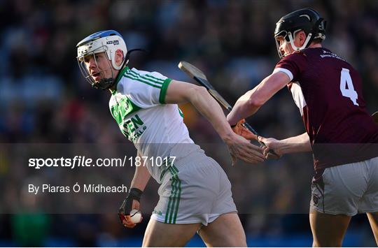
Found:
[[[138,156],[141,158],[141,164],[144,165],[142,156],[138,152]],[[139,210],[141,195],[143,194],[144,188],[150,180],[151,174],[148,172],[146,166],[135,166],[135,173],[130,185],[129,194],[118,210],[118,215],[120,221],[127,228],[133,228],[135,224],[130,218],[131,210]]]

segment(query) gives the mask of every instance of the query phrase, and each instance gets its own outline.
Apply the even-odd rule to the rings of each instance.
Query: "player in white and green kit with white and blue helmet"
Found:
[[[264,160],[262,149],[235,134],[221,106],[204,87],[171,80],[157,72],[127,67],[130,51],[117,31],[99,31],[77,45],[78,64],[92,87],[109,89],[109,108],[138,156],[160,157],[165,166],[136,167],[130,192],[119,210],[133,228],[130,211],[152,177],[161,184],[160,200],[144,235],[144,246],[181,247],[197,231],[207,246],[245,247],[246,237],[221,167],[193,143],[178,103],[192,103],[228,145],[232,162]],[[172,159],[175,157],[175,159]],[[164,237],[164,238],[162,238]]]

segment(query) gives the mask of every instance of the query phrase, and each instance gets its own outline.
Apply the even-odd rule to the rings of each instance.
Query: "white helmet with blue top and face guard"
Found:
[[[113,66],[113,68],[116,70],[120,70],[128,62],[125,41],[123,41],[122,36],[114,30],[99,31],[97,33],[91,34],[90,36],[84,38],[83,41],[80,41],[78,45],[76,45],[76,48],[78,48],[78,57],[76,57],[76,59],[78,59],[80,71],[83,74],[85,80],[87,80],[90,85],[92,85],[92,87],[96,89],[109,89],[114,85],[116,76],[112,75],[112,78],[102,78],[101,80],[99,80],[99,82],[94,81],[92,74],[87,70],[87,67],[85,66],[84,57],[87,57],[89,55],[94,56],[94,54],[105,52],[106,57],[109,59],[109,66]],[[120,64],[120,66],[117,66],[116,60],[114,58],[116,56],[116,50],[119,49],[123,52],[124,60],[123,63]],[[97,65],[95,57],[94,61]]]

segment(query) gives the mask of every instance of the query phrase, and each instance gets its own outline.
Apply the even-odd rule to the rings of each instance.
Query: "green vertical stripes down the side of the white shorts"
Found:
[[[172,164],[168,168],[169,173],[172,175],[172,191],[171,196],[169,196],[169,202],[167,206],[167,211],[165,213],[165,223],[176,224],[177,214],[179,212],[179,204],[181,200],[181,180],[179,179],[179,170]]]

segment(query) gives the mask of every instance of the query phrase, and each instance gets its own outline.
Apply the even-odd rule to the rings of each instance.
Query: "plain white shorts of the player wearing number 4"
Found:
[[[348,216],[378,212],[378,157],[325,168],[311,191],[310,210]]]

